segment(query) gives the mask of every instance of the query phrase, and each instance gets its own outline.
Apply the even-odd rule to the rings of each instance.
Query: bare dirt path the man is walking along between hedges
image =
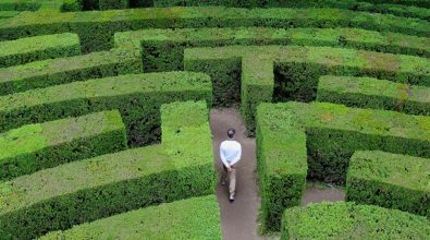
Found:
[[[236,130],[235,139],[242,144],[242,160],[237,166],[235,201],[230,203],[228,187],[221,187],[220,183],[217,187],[218,202],[221,207],[223,239],[265,239],[257,235],[257,214],[260,200],[257,195],[255,140],[246,137],[245,127],[237,109],[212,109],[210,112],[210,124],[213,134],[213,155],[219,172],[222,170],[219,147],[221,142],[226,139],[229,128]]]

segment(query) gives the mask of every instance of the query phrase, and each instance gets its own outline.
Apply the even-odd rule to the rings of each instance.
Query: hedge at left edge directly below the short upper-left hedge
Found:
[[[135,51],[98,51],[0,69],[0,95],[127,73],[140,73]]]

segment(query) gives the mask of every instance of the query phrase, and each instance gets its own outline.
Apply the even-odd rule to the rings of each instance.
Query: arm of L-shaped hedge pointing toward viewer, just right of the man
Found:
[[[257,113],[257,170],[261,196],[260,223],[265,231],[281,228],[285,208],[299,205],[306,187],[306,134],[290,111]]]

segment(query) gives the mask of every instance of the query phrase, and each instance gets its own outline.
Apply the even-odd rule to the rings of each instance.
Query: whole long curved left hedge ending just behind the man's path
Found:
[[[27,123],[119,109],[128,142],[159,140],[160,106],[175,100],[211,103],[210,77],[202,73],[127,74],[32,89],[0,97],[0,132]]]

